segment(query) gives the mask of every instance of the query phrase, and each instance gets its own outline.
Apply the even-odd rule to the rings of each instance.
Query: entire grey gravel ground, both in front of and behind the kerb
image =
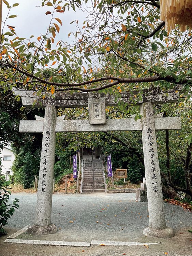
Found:
[[[13,194],[11,198],[19,199],[19,209],[6,226],[9,235],[14,231],[34,223],[36,194]],[[176,230],[172,239],[152,239],[143,236],[142,230],[149,225],[146,202],[135,202],[135,193],[123,194],[71,194],[53,195],[52,223],[58,232],[43,237],[21,235],[21,239],[84,241],[108,240],[128,242],[158,242],[158,245],[145,246],[91,246],[90,248],[55,247],[40,245],[0,244],[6,250],[4,255],[190,255],[192,214],[183,208],[165,203],[167,226]],[[158,213],[157,213],[158,214]],[[3,239],[3,238],[2,238]],[[2,241],[1,239],[1,241]],[[5,240],[5,237],[4,239]],[[28,246],[28,247],[26,247]],[[26,247],[26,249],[25,249]],[[17,248],[14,249],[13,248]],[[23,248],[21,253],[20,250]],[[27,248],[35,248],[28,251]],[[45,249],[46,248],[46,249]],[[49,249],[48,249],[49,248]],[[41,254],[41,249],[43,254]],[[17,251],[18,250],[18,251]],[[82,252],[84,250],[85,252]],[[12,253],[11,253],[11,252]]]

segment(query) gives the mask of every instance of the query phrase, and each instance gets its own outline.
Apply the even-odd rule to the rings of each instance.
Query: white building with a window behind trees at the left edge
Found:
[[[2,168],[2,174],[5,175],[6,181],[9,180],[9,175],[12,175],[13,172],[11,171],[11,166],[13,165],[13,161],[15,159],[14,153],[11,151],[11,147],[4,146],[1,150],[0,154],[1,158],[1,168]]]

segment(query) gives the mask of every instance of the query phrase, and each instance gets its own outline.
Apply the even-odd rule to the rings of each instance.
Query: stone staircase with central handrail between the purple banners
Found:
[[[105,193],[103,179],[103,163],[101,160],[83,161],[83,187],[82,193]]]

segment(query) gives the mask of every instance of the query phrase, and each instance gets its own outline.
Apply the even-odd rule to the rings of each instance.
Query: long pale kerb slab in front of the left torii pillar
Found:
[[[65,241],[45,241],[45,240],[24,240],[24,239],[6,239],[4,243],[19,243],[19,244],[39,244],[39,245],[57,245],[57,246],[90,246],[91,243],[85,242],[65,242]]]

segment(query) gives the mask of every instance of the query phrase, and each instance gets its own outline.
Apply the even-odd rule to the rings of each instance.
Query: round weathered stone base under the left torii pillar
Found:
[[[45,235],[45,234],[54,234],[57,232],[57,227],[55,224],[49,226],[31,226],[27,229],[27,234],[33,235]]]

